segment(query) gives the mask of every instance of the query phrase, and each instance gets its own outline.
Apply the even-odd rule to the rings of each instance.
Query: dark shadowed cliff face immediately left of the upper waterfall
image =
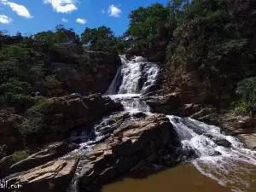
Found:
[[[104,93],[121,64],[119,55],[90,50],[84,50],[84,55],[88,64],[53,63],[52,73],[67,93]]]

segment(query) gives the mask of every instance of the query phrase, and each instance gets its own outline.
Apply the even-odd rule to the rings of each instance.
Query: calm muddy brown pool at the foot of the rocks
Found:
[[[242,183],[229,183],[228,186],[222,186],[218,181],[202,175],[195,166],[190,164],[177,166],[148,177],[136,177],[135,173],[126,175],[104,186],[102,192],[256,192],[256,166],[250,174],[239,176],[243,180]],[[230,179],[232,177],[234,175],[230,174]],[[224,179],[229,178],[224,177]],[[247,182],[250,183],[250,187],[237,189],[240,185],[247,185]]]

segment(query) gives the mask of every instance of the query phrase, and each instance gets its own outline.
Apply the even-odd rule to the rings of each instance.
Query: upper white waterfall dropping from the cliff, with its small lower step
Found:
[[[157,83],[160,67],[141,56],[136,56],[131,61],[125,55],[120,55],[120,58],[122,65],[106,95],[120,100],[127,111],[149,113],[150,108],[140,97]]]

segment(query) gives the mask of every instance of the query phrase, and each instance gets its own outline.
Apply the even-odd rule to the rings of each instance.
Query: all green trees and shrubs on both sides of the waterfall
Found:
[[[235,103],[238,113],[255,113],[255,1],[172,0],[166,6],[140,7],[129,19],[121,37],[107,26],[85,28],[81,36],[61,25],[54,32],[29,37],[0,32],[0,109],[14,107],[23,113],[27,120],[20,124],[21,136],[44,129],[44,109],[50,108],[48,100],[31,93],[63,86],[53,63],[71,63],[86,68],[86,77],[96,76],[97,58],[84,55],[84,49],[113,54],[128,49],[127,53],[161,61],[166,82],[173,79],[168,73],[172,68],[183,67],[208,84],[207,102]]]

